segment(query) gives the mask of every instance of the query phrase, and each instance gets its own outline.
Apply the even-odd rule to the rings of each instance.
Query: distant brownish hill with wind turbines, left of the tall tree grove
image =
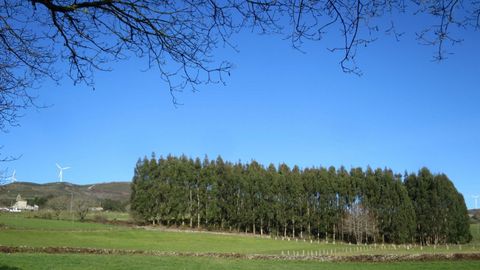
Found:
[[[0,189],[0,201],[15,200],[18,194],[25,199],[47,197],[49,195],[73,196],[91,199],[113,199],[128,201],[130,199],[130,182],[111,182],[90,185],[76,185],[67,182],[37,184],[29,182],[15,182]]]

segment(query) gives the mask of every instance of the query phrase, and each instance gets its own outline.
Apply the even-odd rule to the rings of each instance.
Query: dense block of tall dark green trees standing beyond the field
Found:
[[[465,243],[463,196],[427,168],[264,167],[221,157],[139,160],[132,214],[143,222],[352,243]]]

